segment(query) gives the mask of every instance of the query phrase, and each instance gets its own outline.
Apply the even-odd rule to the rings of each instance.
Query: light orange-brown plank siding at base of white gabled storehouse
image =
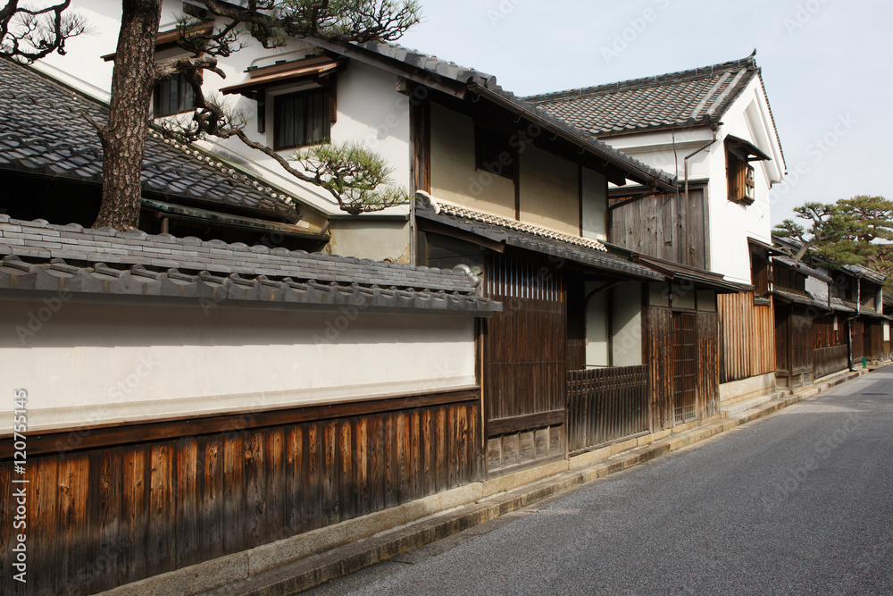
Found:
[[[755,305],[753,292],[720,294],[720,382],[775,370],[775,321],[771,304]]]

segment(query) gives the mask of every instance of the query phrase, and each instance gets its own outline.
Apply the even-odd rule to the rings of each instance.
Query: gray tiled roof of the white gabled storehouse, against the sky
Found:
[[[719,122],[760,76],[753,56],[691,71],[528,97],[600,137]]]

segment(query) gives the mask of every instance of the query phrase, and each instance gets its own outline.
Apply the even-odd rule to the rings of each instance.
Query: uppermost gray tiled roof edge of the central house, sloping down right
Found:
[[[550,113],[522,97],[515,96],[512,92],[506,91],[497,84],[497,78],[494,75],[441,60],[437,56],[422,54],[417,50],[392,42],[369,41],[363,44],[344,44],[321,39],[308,39],[308,41],[335,52],[344,51],[345,47],[362,48],[374,55],[385,56],[404,67],[422,71],[429,79],[432,77],[435,80],[442,78],[472,86],[480,93],[490,94],[505,101],[513,107],[514,111],[525,113],[532,122],[560,130],[566,139],[628,172],[630,179],[646,184],[659,180],[659,184],[664,189],[675,188],[676,179],[667,172],[656,170],[650,165],[605,145],[594,136],[590,136],[585,130],[580,130],[572,122],[562,119],[561,114]],[[424,84],[425,77],[421,77],[420,80]]]

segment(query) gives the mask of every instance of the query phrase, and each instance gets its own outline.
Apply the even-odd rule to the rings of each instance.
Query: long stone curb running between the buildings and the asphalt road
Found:
[[[300,592],[770,416],[871,370],[874,368],[831,375],[796,393],[769,399],[739,414],[726,416],[723,412],[722,416],[714,416],[700,426],[691,428],[689,424],[682,432],[663,431],[621,441],[542,466],[542,470],[533,468],[485,483],[472,483],[446,494],[364,516],[367,519],[348,520],[104,593],[273,596]],[[544,473],[549,475],[543,477]],[[373,532],[376,527],[379,529]],[[296,541],[300,541],[297,549]]]

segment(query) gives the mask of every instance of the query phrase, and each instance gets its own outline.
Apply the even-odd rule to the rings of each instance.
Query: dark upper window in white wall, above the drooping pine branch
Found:
[[[273,148],[277,151],[325,142],[330,128],[328,90],[273,98]]]

